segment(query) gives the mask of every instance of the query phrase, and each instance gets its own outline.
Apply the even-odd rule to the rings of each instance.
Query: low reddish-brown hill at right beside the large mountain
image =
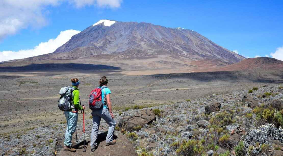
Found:
[[[218,68],[215,71],[250,70],[250,69],[283,69],[283,61],[269,57],[247,58],[236,64]]]

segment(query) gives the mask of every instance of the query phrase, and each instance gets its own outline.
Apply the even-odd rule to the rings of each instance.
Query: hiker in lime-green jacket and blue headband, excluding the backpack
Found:
[[[77,78],[71,79],[72,87],[75,90],[72,92],[72,103],[71,110],[65,112],[65,117],[67,120],[67,130],[65,134],[64,141],[64,151],[75,152],[76,149],[72,147],[72,136],[76,131],[77,123],[78,123],[78,110],[84,110],[85,106],[80,106],[80,91],[78,89],[80,85],[80,81]]]

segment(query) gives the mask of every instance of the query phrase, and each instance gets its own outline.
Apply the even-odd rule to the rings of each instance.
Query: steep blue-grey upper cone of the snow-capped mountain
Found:
[[[88,58],[110,54],[119,55],[117,57],[120,59],[146,59],[166,55],[195,61],[219,59],[228,64],[245,59],[193,30],[111,20],[100,20],[89,26],[72,36],[53,54],[57,54],[55,58]]]

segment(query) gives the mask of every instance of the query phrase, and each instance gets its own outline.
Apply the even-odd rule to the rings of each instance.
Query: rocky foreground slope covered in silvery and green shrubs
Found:
[[[120,151],[121,147],[125,148],[121,155],[132,153],[132,146],[138,155],[282,155],[283,86],[249,87],[252,91],[213,94],[172,105],[136,107],[121,113],[114,111],[117,144],[120,137],[124,141],[119,144],[127,146],[111,147]],[[85,121],[87,142],[91,135],[91,120]],[[126,124],[121,126],[124,122]],[[1,134],[0,154],[62,155],[65,127],[66,123],[47,124],[31,130]],[[99,133],[103,136],[107,129],[107,123],[102,120]],[[78,142],[81,142],[82,122],[78,122],[77,131]],[[73,139],[75,141],[75,136]],[[105,151],[104,148],[99,146],[93,153],[88,149],[86,154],[98,154],[96,152]],[[107,152],[103,154],[111,155]],[[83,155],[82,150],[74,155]]]

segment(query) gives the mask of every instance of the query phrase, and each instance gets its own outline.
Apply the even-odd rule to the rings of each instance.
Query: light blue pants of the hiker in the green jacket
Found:
[[[76,131],[76,127],[78,123],[78,113],[66,111],[65,117],[67,120],[67,129],[66,129],[64,144],[66,146],[72,146],[72,136],[74,132]]]

